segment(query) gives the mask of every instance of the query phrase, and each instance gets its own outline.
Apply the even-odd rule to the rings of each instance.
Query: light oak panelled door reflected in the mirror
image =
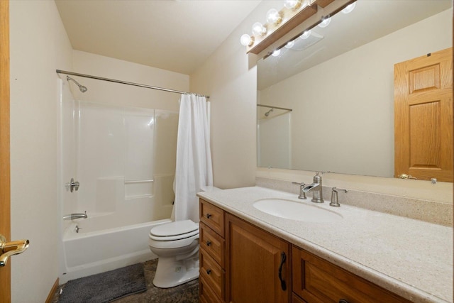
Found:
[[[394,177],[453,182],[453,49],[394,65]]]

